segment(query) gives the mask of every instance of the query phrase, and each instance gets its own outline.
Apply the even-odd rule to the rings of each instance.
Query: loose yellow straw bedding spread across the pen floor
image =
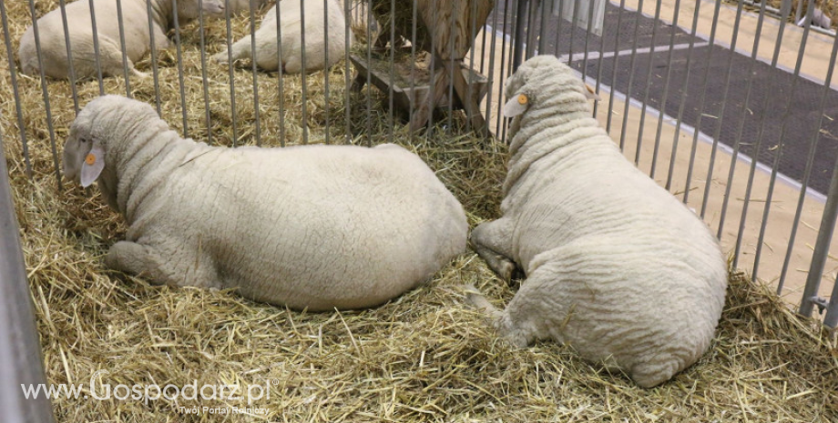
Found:
[[[43,14],[54,1],[37,2]],[[26,2],[6,2],[16,41],[28,22]],[[247,19],[233,22],[234,35]],[[223,22],[210,22],[210,53],[220,50]],[[183,61],[189,136],[206,139],[199,39],[184,28]],[[159,60],[162,115],[182,131],[174,53]],[[150,72],[148,60],[138,64]],[[267,416],[182,414],[191,407],[245,407],[246,400],[54,400],[59,421],[836,421],[838,350],[811,321],[795,317],[780,300],[744,275],[731,276],[718,336],[700,362],[659,388],[641,389],[580,361],[569,347],[541,343],[516,349],[496,339],[482,316],[465,307],[460,286],[474,283],[506,303],[507,287],[469,253],[427,286],[372,310],[291,312],[243,300],[229,292],[152,287],[141,278],[107,271],[101,256],[124,236],[121,219],[96,189],[58,189],[44,100],[36,78],[19,76],[23,123],[31,156],[26,163],[5,58],[0,63],[2,135],[15,193],[29,283],[50,383],[84,383],[97,370],[111,386],[271,383],[271,398],[250,407]],[[208,64],[213,143],[232,144],[227,68]],[[277,75],[259,74],[261,141],[279,144],[280,116],[288,144],[322,142],[326,117],[332,141],[343,142],[343,65],[307,78],[308,116],[301,121],[301,76],[284,77],[285,112],[279,112]],[[324,76],[330,100],[323,99]],[[239,144],[255,142],[252,74],[235,71]],[[154,103],[153,82],[131,80],[134,95]],[[60,153],[74,115],[66,82],[48,84]],[[120,78],[108,93],[124,93]],[[96,81],[78,85],[84,105]],[[367,95],[372,109],[367,110]],[[386,98],[353,95],[353,142],[385,142]],[[432,166],[463,203],[473,225],[497,216],[505,146],[465,134],[455,116],[448,133],[411,137],[396,125],[395,142]],[[650,304],[649,307],[654,307]],[[102,394],[98,390],[98,395]],[[89,394],[89,390],[85,394]]]

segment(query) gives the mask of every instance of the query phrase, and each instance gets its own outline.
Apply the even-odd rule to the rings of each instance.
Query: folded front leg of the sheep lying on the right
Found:
[[[516,270],[515,261],[508,246],[511,239],[509,221],[503,218],[478,225],[472,231],[471,242],[477,255],[483,257],[486,264],[498,277],[509,283]]]

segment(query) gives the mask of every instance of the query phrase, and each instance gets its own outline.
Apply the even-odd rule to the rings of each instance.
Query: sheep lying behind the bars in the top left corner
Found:
[[[224,0],[203,0],[204,12],[208,15],[223,13]],[[174,9],[171,0],[148,0],[151,3],[151,17],[154,22],[154,43],[158,49],[169,47],[166,33],[174,26]],[[134,69],[134,62],[151,49],[148,25],[148,3],[146,0],[122,0],[122,25],[128,68],[138,76],[145,74]],[[198,0],[180,0],[178,18],[186,22],[199,16]],[[122,47],[119,38],[117,0],[95,0],[97,42],[99,62],[103,76],[122,75]],[[76,77],[97,76],[96,49],[94,48],[93,25],[90,19],[88,0],[77,0],[66,5],[67,32],[73,55],[73,69]],[[37,20],[38,38],[44,60],[44,73],[54,78],[68,77],[66,38],[61,9],[55,9]],[[18,50],[21,69],[25,74],[37,75],[40,69],[32,26],[20,39]]]

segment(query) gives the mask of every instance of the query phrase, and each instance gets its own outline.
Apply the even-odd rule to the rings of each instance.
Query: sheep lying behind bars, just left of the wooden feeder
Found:
[[[262,18],[259,30],[256,31],[256,65],[267,71],[282,67],[284,72],[298,74],[302,72],[302,27],[301,15],[305,15],[305,68],[307,71],[323,69],[334,65],[343,58],[346,52],[346,18],[343,15],[342,2],[328,0],[326,7],[323,0],[307,0],[304,4],[304,14],[301,14],[301,0],[283,0],[278,2],[280,7],[282,57],[277,55],[277,19],[276,7],[273,5]],[[328,16],[328,26],[324,27],[324,19]],[[328,36],[328,59],[326,63],[326,36]],[[354,42],[352,32],[349,33],[349,44]],[[250,36],[244,37],[232,45],[231,55],[225,49],[215,60],[223,63],[247,59],[251,53]]]

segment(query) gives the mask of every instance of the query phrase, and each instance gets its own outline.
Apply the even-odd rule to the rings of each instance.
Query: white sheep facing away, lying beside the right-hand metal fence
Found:
[[[517,346],[552,338],[641,387],[668,380],[710,346],[727,286],[719,243],[622,156],[557,58],[526,61],[506,97],[504,216],[471,241],[503,279],[527,278],[503,311],[469,299]]]

